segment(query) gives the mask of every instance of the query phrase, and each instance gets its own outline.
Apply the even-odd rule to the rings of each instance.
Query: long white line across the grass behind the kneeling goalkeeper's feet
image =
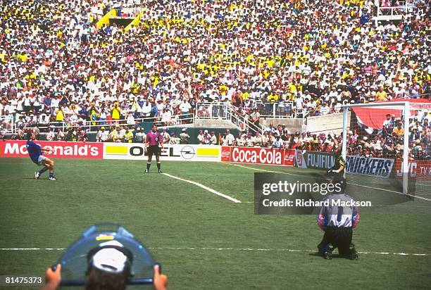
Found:
[[[292,249],[292,248],[186,248],[186,247],[153,247],[149,250],[166,251],[255,251],[255,252],[296,252],[317,253],[316,250]],[[65,248],[0,248],[0,251],[64,251]],[[425,253],[389,253],[389,252],[358,252],[371,255],[394,255],[394,256],[431,256]]]

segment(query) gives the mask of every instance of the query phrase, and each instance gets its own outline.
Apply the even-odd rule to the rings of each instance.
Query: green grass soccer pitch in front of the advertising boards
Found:
[[[315,215],[254,215],[253,203],[254,172],[317,171],[165,161],[168,175],[155,163],[144,175],[144,165],[57,159],[52,182],[46,173],[33,179],[27,158],[0,158],[0,275],[42,276],[62,253],[46,248],[118,222],[161,262],[169,289],[429,289],[431,215],[363,214],[354,231],[359,260],[324,260]]]

